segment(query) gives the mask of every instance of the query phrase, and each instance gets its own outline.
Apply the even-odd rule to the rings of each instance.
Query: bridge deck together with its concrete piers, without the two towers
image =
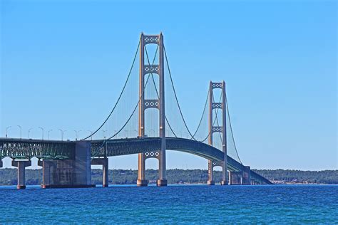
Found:
[[[92,141],[0,138],[0,159],[11,157],[12,165],[18,167],[18,188],[25,187],[24,168],[31,166],[32,157],[43,167],[42,187],[91,187],[91,164],[103,166],[103,186],[108,187],[108,157],[144,153],[146,159],[158,158],[160,144],[160,137]],[[195,140],[166,137],[166,149],[209,159],[215,167],[224,161],[222,151]],[[230,156],[227,169],[229,184],[271,184]]]

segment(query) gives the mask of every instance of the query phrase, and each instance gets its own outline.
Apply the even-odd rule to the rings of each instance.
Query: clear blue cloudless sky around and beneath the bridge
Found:
[[[140,32],[162,31],[191,127],[209,81],[225,80],[242,162],[338,169],[337,1],[2,0],[0,7],[1,137],[7,126],[19,137],[16,125],[23,137],[34,127],[33,138],[39,126],[45,135],[94,130],[118,98]],[[193,155],[167,155],[168,168],[207,168]],[[137,155],[110,160],[111,168],[137,168]]]

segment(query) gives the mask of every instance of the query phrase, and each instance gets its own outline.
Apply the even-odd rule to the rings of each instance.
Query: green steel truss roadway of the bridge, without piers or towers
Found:
[[[166,137],[166,149],[187,152],[193,155],[222,161],[224,154],[215,147],[203,142],[178,137]],[[31,140],[0,138],[0,159],[73,159],[76,141]],[[113,157],[132,155],[141,152],[160,150],[160,137],[123,138],[114,140],[91,140],[91,157]],[[243,171],[245,166],[232,157],[227,156],[228,170]],[[265,177],[250,170],[251,179],[259,183],[272,184]]]

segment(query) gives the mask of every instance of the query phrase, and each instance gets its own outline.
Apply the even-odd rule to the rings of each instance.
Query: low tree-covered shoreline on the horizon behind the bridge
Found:
[[[338,184],[338,170],[302,171],[291,169],[254,169],[275,184]],[[102,184],[102,170],[92,169],[92,183]],[[149,183],[156,182],[158,172],[147,169]],[[0,185],[16,185],[17,169],[0,169]],[[221,172],[215,171],[215,182],[220,182]],[[109,169],[109,184],[136,184],[137,170]],[[205,184],[206,169],[168,169],[168,184]],[[42,169],[26,169],[26,185],[42,183]]]

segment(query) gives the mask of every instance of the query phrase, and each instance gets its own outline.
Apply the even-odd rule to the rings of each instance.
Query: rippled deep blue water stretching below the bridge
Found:
[[[0,187],[0,223],[338,224],[338,186]]]

